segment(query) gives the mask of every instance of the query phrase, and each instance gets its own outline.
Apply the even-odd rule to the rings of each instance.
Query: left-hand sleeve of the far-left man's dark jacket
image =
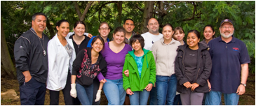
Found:
[[[30,41],[25,36],[20,36],[14,45],[14,58],[16,68],[20,71],[29,70]]]

